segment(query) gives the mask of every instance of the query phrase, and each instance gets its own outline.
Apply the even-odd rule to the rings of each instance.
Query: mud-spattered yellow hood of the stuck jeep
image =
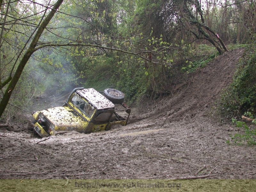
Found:
[[[39,111],[55,125],[55,130],[83,129],[87,122],[70,107],[54,107]]]

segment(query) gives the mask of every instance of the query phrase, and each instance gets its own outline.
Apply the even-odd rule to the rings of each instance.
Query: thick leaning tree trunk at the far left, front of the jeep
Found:
[[[0,117],[4,113],[4,110],[5,110],[8,102],[9,102],[9,100],[11,98],[12,91],[15,88],[18,80],[20,79],[21,73],[22,73],[25,65],[27,64],[27,62],[28,62],[29,58],[31,57],[31,55],[33,54],[33,52],[36,51],[35,47],[36,47],[36,44],[37,44],[40,36],[42,35],[44,29],[46,28],[46,26],[48,25],[48,23],[50,22],[50,20],[54,16],[54,14],[57,12],[57,9],[59,9],[59,7],[60,7],[60,5],[62,4],[63,1],[64,0],[58,0],[54,4],[52,10],[47,15],[47,17],[44,19],[44,21],[42,22],[41,26],[38,28],[35,37],[33,38],[31,44],[29,45],[28,50],[25,52],[24,56],[22,57],[19,65],[18,65],[18,68],[16,69],[16,72],[15,72],[14,76],[12,77],[11,82],[8,85],[8,87],[7,87],[7,89],[6,89],[5,93],[4,93],[3,99],[1,100],[1,103],[0,103]]]

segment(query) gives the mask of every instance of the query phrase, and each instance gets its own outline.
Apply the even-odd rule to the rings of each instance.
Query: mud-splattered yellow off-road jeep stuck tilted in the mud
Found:
[[[126,125],[131,109],[123,101],[124,93],[116,89],[105,89],[102,95],[93,88],[76,88],[62,107],[33,114],[34,131],[47,137],[68,130],[90,133],[109,130],[113,124]],[[116,110],[114,103],[123,106],[122,109]],[[127,117],[120,116],[118,111],[127,113]]]

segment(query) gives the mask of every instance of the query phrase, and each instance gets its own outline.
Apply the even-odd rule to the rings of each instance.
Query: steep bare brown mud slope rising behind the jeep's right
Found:
[[[243,53],[244,49],[237,49],[217,57],[207,67],[192,74],[185,85],[184,82],[182,85],[178,84],[181,90],[174,96],[158,101],[153,114],[159,114],[159,111],[158,117],[169,114],[168,119],[171,121],[206,115],[220,96],[220,92],[232,82],[236,63]]]

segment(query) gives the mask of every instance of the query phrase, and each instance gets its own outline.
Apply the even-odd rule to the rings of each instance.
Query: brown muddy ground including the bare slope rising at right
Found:
[[[132,109],[124,127],[47,140],[31,137],[26,126],[1,128],[0,179],[256,179],[255,146],[226,144],[239,130],[212,113],[243,52],[219,56],[147,113]]]

